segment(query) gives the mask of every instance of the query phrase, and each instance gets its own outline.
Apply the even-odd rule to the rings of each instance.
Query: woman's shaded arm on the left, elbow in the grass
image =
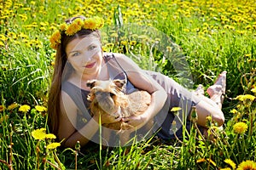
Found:
[[[87,144],[93,135],[99,129],[99,117],[93,116],[89,122],[87,122],[84,127],[79,129],[75,128],[77,123],[77,111],[78,108],[74,104],[73,99],[69,97],[65,92],[61,92],[61,114],[59,117],[59,129],[58,137],[59,139],[65,139],[63,142],[64,147],[74,147],[77,141],[79,141],[81,146]],[[102,124],[108,122],[119,122],[119,119],[114,119],[113,117],[104,116],[102,117]]]

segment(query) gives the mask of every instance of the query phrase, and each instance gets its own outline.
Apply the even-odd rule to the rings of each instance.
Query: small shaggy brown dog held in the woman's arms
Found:
[[[90,103],[90,111],[92,115],[101,114],[104,116],[113,116],[113,118],[127,117],[131,115],[141,115],[148,109],[151,102],[151,95],[146,91],[135,91],[131,94],[124,94],[122,92],[125,80],[91,80],[86,84],[90,87],[90,94],[88,100]],[[113,130],[119,130],[119,133],[125,134],[125,130],[131,129],[132,126],[127,122],[114,122],[103,124],[103,127],[108,127]],[[131,133],[131,132],[129,132]],[[127,141],[127,136],[121,143]]]

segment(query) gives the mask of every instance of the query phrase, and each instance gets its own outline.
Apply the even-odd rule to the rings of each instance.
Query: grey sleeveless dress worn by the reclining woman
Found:
[[[106,61],[106,66],[108,66],[108,73],[111,79],[126,79],[125,93],[130,94],[136,90],[129,79],[122,66],[115,59],[113,54],[105,54],[104,59]],[[161,111],[154,116],[154,127],[152,131],[156,133],[160,139],[175,139],[174,133],[176,133],[178,138],[183,138],[183,130],[189,129],[191,123],[188,120],[189,113],[193,105],[196,105],[200,99],[195,95],[179,85],[177,82],[172,80],[170,77],[160,74],[154,71],[145,71],[148,77],[153,77],[156,82],[158,82],[165,90],[167,94],[166,103],[161,109]],[[139,80],[138,80],[139,81]],[[78,120],[75,125],[77,129],[81,128],[88,122],[91,118],[89,105],[90,102],[87,100],[87,95],[89,91],[78,88],[71,82],[62,82],[61,90],[66,92],[78,106]],[[172,107],[180,107],[182,110],[172,112]],[[172,126],[172,122],[176,122],[176,127]],[[141,130],[142,129],[142,130]],[[143,127],[137,131],[137,135],[145,135],[143,132]],[[98,135],[94,136],[93,141],[97,142]],[[115,135],[113,133],[113,135]],[[118,139],[117,136],[113,136],[113,139]]]

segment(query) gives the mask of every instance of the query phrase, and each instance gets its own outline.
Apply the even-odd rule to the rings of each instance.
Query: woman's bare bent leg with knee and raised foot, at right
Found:
[[[207,93],[210,99],[202,95],[200,90],[195,92],[195,95],[201,98],[201,101],[195,105],[195,110],[197,112],[198,120],[197,124],[202,127],[206,127],[207,116],[212,116],[212,121],[217,122],[218,126],[224,123],[224,114],[221,111],[223,94],[226,88],[226,71],[223,71],[219,76],[217,81],[207,89]]]

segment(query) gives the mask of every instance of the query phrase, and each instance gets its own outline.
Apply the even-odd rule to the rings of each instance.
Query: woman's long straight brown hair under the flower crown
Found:
[[[66,20],[67,23],[73,20],[81,18],[83,16],[74,17],[72,19]],[[60,102],[61,102],[61,82],[67,80],[73,71],[73,67],[67,63],[66,47],[69,42],[75,38],[82,38],[88,35],[98,37],[101,41],[100,32],[98,30],[92,31],[88,29],[82,29],[78,31],[72,37],[67,36],[65,33],[61,33],[61,44],[56,50],[55,56],[55,68],[51,81],[51,86],[49,88],[49,99],[48,99],[48,126],[51,133],[57,134],[59,127],[59,115],[61,112]]]

